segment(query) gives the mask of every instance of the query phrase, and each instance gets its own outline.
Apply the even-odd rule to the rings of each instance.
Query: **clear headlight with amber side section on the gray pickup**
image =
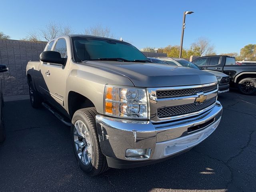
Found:
[[[116,117],[147,119],[146,89],[106,85],[104,112]]]

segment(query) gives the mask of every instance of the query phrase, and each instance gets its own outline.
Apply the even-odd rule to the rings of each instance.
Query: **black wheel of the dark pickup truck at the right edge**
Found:
[[[256,80],[253,78],[244,78],[238,83],[238,89],[242,94],[254,95],[256,93]]]

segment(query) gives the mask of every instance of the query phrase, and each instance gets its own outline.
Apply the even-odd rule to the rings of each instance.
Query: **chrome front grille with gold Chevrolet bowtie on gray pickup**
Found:
[[[218,83],[147,88],[150,121],[163,122],[192,117],[210,110],[216,103]]]

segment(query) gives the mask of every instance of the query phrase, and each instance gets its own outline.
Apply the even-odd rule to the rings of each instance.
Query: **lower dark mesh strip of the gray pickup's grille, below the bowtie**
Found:
[[[172,117],[178,115],[189,114],[198,112],[204,108],[207,108],[216,102],[216,97],[205,100],[203,103],[192,103],[187,105],[180,105],[168,108],[157,109],[158,118]]]

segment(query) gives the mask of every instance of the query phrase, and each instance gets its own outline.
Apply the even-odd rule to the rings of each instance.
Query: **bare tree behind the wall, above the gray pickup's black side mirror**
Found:
[[[41,36],[46,41],[50,41],[57,36],[70,34],[72,29],[69,25],[63,26],[61,23],[49,22],[43,29],[40,29]]]

